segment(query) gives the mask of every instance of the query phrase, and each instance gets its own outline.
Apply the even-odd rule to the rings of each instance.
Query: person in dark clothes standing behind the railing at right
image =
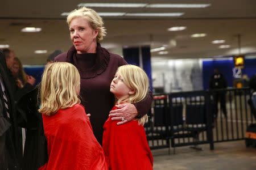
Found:
[[[226,79],[224,76],[218,71],[218,69],[214,69],[214,74],[210,77],[209,82],[210,90],[213,91],[213,116],[217,118],[218,116],[218,100],[220,100],[221,110],[224,114],[225,118],[227,117],[226,112],[226,91],[227,87]]]

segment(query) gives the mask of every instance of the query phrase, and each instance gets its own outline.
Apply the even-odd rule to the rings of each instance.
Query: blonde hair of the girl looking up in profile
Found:
[[[118,67],[118,74],[123,79],[127,87],[134,90],[134,94],[129,99],[119,99],[117,103],[128,100],[129,103],[137,103],[145,99],[148,95],[148,77],[143,69],[135,65],[123,65]],[[139,125],[144,125],[148,121],[147,114],[138,119]]]

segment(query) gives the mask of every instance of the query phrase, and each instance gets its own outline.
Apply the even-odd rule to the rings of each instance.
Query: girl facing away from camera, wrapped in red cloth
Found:
[[[40,84],[48,162],[41,169],[108,169],[80,104],[80,75],[71,63],[49,63]]]

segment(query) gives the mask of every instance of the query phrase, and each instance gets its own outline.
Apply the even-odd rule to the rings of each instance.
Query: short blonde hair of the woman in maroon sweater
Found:
[[[103,40],[103,37],[106,36],[106,29],[104,27],[104,22],[102,18],[100,17],[100,15],[97,14],[96,11],[86,7],[81,7],[79,9],[73,10],[67,17],[68,25],[70,25],[72,19],[79,17],[88,20],[92,29],[98,29],[98,35],[96,38],[97,42]]]

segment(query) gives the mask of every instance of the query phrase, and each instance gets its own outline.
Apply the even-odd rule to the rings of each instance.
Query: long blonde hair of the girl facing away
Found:
[[[79,71],[68,62],[49,63],[40,84],[40,113],[50,116],[59,109],[80,103],[76,88],[80,86]]]

